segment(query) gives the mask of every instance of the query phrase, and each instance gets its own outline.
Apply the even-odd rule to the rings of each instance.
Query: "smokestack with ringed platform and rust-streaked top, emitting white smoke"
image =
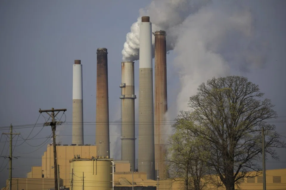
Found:
[[[134,62],[121,62],[121,159],[135,171]]]

